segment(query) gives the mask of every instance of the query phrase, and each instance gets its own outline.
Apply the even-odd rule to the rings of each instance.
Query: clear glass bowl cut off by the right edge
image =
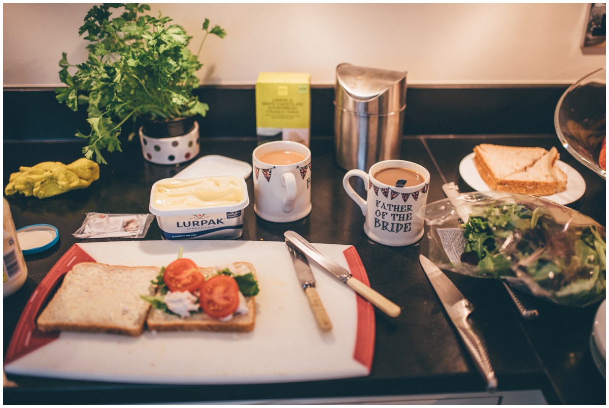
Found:
[[[605,68],[586,75],[565,91],[554,111],[554,127],[560,143],[579,162],[607,179],[599,154],[605,140],[607,84]]]

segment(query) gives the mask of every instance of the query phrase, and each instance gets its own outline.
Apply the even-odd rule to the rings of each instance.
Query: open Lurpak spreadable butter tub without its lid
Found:
[[[234,240],[249,203],[241,177],[170,178],[152,185],[149,210],[165,240]]]

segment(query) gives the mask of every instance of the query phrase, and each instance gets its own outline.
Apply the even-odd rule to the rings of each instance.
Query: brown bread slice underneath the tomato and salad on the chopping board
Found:
[[[252,263],[234,262],[228,266],[230,271],[235,274],[245,275],[252,272],[256,277],[256,270]],[[216,273],[215,268],[199,268],[199,270],[206,276]],[[227,322],[209,317],[205,313],[194,313],[189,317],[181,318],[175,314],[151,308],[146,325],[148,330],[156,331],[252,331],[256,323],[256,303],[253,297],[245,297],[245,302],[248,309],[247,314],[236,314]]]

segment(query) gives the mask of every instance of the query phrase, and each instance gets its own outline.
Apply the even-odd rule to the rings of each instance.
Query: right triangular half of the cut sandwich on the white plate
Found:
[[[497,190],[510,193],[552,195],[565,191],[567,175],[555,164],[558,151],[552,147],[535,164],[524,171],[498,181]]]

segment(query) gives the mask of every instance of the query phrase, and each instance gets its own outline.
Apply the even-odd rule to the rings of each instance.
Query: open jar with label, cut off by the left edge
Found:
[[[2,211],[4,220],[2,221],[2,283],[4,297],[9,296],[23,286],[27,278],[26,260],[19,247],[15,223],[10,213],[9,202],[2,199]]]

